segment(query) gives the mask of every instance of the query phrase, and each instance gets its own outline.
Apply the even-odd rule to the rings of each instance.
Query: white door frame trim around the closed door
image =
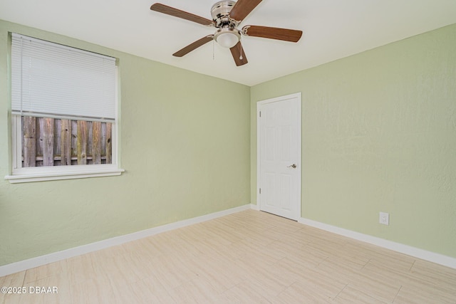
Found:
[[[301,138],[302,138],[302,129],[301,129],[301,120],[302,120],[302,111],[301,111],[301,92],[299,93],[294,93],[294,94],[289,94],[289,95],[284,95],[284,96],[279,96],[276,98],[270,98],[266,100],[260,100],[257,102],[257,208],[258,210],[261,211],[261,196],[259,194],[259,189],[260,189],[260,181],[261,181],[261,126],[260,126],[260,111],[261,107],[263,105],[266,105],[267,103],[279,103],[282,100],[289,100],[293,98],[298,98],[299,103],[298,103],[298,112],[299,112],[299,119],[298,119],[298,130],[297,130],[297,137],[296,140],[298,141],[298,147],[299,147],[299,157],[297,159],[297,165],[298,167],[296,169],[299,169],[299,174],[298,174],[298,179],[299,179],[299,204],[296,209],[296,221],[301,219],[301,204],[302,204],[302,197],[301,197],[301,192],[302,192],[302,146],[301,146]]]

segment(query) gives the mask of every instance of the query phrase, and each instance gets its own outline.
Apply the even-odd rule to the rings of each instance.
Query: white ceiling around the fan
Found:
[[[159,0],[211,19],[217,0]],[[214,33],[155,11],[155,0],[1,0],[0,19],[78,38],[198,73],[255,85],[456,23],[456,0],[263,0],[241,23],[304,31],[299,43],[242,37],[249,63],[207,43],[172,53]]]

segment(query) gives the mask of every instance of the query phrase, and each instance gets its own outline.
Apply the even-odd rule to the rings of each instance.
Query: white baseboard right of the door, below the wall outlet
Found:
[[[443,266],[451,267],[456,269],[456,258],[450,256],[444,256],[440,253],[434,253],[431,251],[425,251],[420,248],[415,248],[412,246],[404,245],[402,243],[395,243],[393,241],[388,241],[385,239],[380,239],[375,236],[369,236],[367,234],[361,234],[359,232],[351,231],[348,229],[339,228],[337,226],[331,226],[328,224],[321,223],[319,221],[313,221],[311,219],[301,218],[298,221],[301,224],[312,226],[324,231],[332,232],[333,234],[339,234],[341,236],[347,236],[351,239],[356,239],[358,241],[363,241],[366,243],[371,243],[376,246],[387,248],[393,251],[398,251],[400,253],[407,254],[408,256],[413,256],[415,258],[421,258],[425,261],[430,261],[432,263],[437,263]]]

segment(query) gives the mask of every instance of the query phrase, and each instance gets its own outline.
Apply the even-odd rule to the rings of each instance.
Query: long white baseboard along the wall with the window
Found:
[[[138,239],[145,238],[147,236],[153,236],[155,234],[160,234],[165,231],[170,231],[185,226],[190,226],[193,224],[202,223],[203,221],[209,221],[211,219],[217,219],[221,216],[227,216],[229,214],[234,214],[240,211],[251,209],[251,205],[247,204],[244,206],[239,206],[232,209],[227,209],[213,214],[206,214],[203,216],[197,216],[192,219],[185,219],[183,221],[177,221],[175,223],[166,224],[163,226],[157,226],[150,229],[145,229],[138,232],[133,232],[133,234],[125,234],[123,236],[116,236],[112,239],[106,239],[103,241],[98,241],[95,243],[89,243],[87,245],[78,246],[75,248],[66,249],[63,251],[58,251],[55,253],[49,253],[44,256],[38,256],[36,258],[29,258],[24,261],[19,261],[4,266],[0,266],[0,277],[8,276],[11,273],[18,273],[20,271],[26,271],[30,268],[35,268],[38,266],[43,266],[48,263],[53,263],[57,261],[64,260],[66,258],[72,258],[73,256],[81,256],[82,254],[90,253],[93,251],[98,251],[100,249],[117,246],[123,243],[128,243],[130,241],[136,241]]]

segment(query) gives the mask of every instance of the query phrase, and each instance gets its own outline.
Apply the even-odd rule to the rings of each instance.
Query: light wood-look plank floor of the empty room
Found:
[[[456,303],[456,270],[248,210],[0,278],[0,303]]]

